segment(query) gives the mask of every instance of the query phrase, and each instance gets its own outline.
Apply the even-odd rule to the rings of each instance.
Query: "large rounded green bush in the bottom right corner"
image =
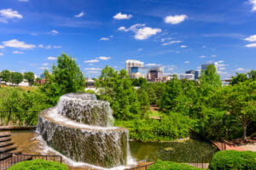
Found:
[[[223,150],[212,158],[211,170],[254,170],[256,169],[256,152]]]

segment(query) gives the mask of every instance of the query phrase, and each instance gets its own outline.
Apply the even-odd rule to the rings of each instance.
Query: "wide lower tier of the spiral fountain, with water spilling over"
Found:
[[[74,161],[100,167],[127,163],[127,129],[82,124],[61,115],[59,109],[57,105],[41,111],[38,117],[37,131],[49,146]]]

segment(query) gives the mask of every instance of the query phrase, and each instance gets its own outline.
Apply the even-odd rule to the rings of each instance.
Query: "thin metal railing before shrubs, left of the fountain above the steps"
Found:
[[[30,126],[38,121],[39,111],[0,111],[0,126]]]

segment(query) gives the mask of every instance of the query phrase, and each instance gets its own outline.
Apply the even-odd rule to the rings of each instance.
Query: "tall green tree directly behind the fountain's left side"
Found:
[[[40,88],[48,96],[49,105],[55,105],[61,95],[67,93],[84,92],[85,80],[75,59],[61,54],[57,65],[52,66],[52,74],[44,71],[45,82]]]

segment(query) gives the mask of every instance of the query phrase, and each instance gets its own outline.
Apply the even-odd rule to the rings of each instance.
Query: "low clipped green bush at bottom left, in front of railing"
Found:
[[[9,167],[8,170],[68,170],[67,165],[55,161],[33,160],[20,161],[14,166]]]

